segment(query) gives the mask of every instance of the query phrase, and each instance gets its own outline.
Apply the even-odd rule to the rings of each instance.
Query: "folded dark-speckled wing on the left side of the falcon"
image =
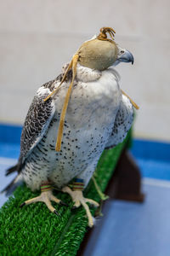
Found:
[[[20,138],[20,162],[23,163],[33,148],[36,147],[48,130],[48,125],[54,116],[55,107],[53,99],[43,102],[50,90],[44,86],[37,90],[31,106],[26,115],[26,120]]]

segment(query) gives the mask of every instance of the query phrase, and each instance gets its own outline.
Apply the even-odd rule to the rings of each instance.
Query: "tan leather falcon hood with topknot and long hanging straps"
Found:
[[[109,33],[111,38],[107,38],[107,33]],[[82,46],[77,50],[77,53],[73,55],[71,62],[67,67],[59,86],[44,99],[44,102],[46,102],[51,96],[54,95],[54,93],[56,93],[59,90],[61,84],[63,84],[63,82],[66,79],[67,73],[69,72],[69,70],[72,70],[71,84],[69,86],[69,89],[67,90],[67,93],[65,96],[65,102],[62,108],[60,119],[59,119],[59,130],[58,130],[57,142],[55,146],[56,151],[60,151],[60,148],[61,148],[65,114],[66,114],[66,110],[70,100],[74,79],[77,75],[77,63],[79,62],[84,67],[97,69],[99,71],[102,71],[107,69],[108,67],[111,67],[116,61],[116,57],[118,53],[118,48],[114,41],[115,33],[116,32],[114,31],[114,29],[111,27],[102,27],[100,29],[99,36],[84,42]],[[122,93],[125,94],[123,91]],[[129,98],[129,96],[127,97]],[[137,108],[137,109],[139,108],[131,99],[130,101],[132,102],[134,108]]]

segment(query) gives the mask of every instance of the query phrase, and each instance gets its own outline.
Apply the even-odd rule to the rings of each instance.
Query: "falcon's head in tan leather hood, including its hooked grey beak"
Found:
[[[111,38],[107,38],[107,33]],[[78,49],[78,62],[84,67],[105,70],[120,62],[132,62],[133,55],[123,49],[114,40],[115,31],[111,27],[102,27],[99,36],[86,41]]]

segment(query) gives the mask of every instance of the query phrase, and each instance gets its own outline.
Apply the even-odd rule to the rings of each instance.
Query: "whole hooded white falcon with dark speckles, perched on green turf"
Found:
[[[60,189],[71,195],[75,207],[85,208],[88,225],[93,226],[87,203],[99,204],[82,192],[103,150],[126,137],[136,107],[121,90],[114,69],[120,62],[133,64],[133,55],[115,43],[114,34],[110,27],[101,28],[99,36],[82,44],[56,79],[37,90],[21,133],[20,158],[6,172],[16,171],[17,176],[3,189],[7,193],[24,181],[32,191],[41,190],[41,195],[21,207],[42,201],[58,214],[51,201],[65,203],[53,195],[52,188]]]

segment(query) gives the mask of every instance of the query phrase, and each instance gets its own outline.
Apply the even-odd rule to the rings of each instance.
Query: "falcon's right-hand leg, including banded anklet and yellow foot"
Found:
[[[72,201],[74,202],[74,207],[80,207],[81,205],[82,207],[84,207],[88,215],[88,226],[93,227],[94,221],[87,203],[90,203],[94,207],[99,207],[99,203],[92,199],[85,198],[82,195],[83,187],[83,180],[76,178],[74,182],[71,184],[72,190],[71,188],[66,186],[62,189],[62,191],[71,195]]]

